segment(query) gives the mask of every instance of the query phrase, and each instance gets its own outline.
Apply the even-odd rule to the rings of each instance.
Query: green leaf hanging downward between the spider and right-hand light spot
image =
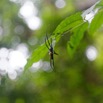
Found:
[[[85,22],[75,30],[73,30],[73,35],[70,37],[70,41],[67,43],[67,50],[69,53],[69,56],[72,58],[78,45],[80,44],[81,39],[84,36],[84,32],[86,31],[88,27],[88,22]]]

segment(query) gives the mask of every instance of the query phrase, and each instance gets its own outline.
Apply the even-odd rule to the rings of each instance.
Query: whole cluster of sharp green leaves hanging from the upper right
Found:
[[[56,43],[61,39],[62,35],[65,32],[71,32],[72,35],[70,37],[70,40],[67,43],[67,51],[70,55],[70,57],[73,57],[78,45],[80,44],[85,31],[88,31],[90,35],[93,35],[103,24],[103,1],[99,1],[95,4],[94,8],[92,8],[94,11],[96,8],[98,8],[98,12],[94,15],[94,18],[91,23],[88,23],[88,21],[85,21],[84,18],[81,16],[82,12],[75,13],[63,21],[60,22],[60,24],[57,26],[55,31],[53,32],[53,35],[51,35],[50,38],[55,38]],[[92,12],[91,10],[89,12]],[[86,16],[86,15],[85,15]],[[42,59],[47,53],[47,48],[45,46],[45,43],[40,45],[30,58],[28,59],[28,62],[25,66],[25,70],[30,68],[34,62],[39,61]]]

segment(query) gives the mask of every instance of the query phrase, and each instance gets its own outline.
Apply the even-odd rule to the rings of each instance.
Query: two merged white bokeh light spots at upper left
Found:
[[[41,19],[37,17],[38,10],[32,1],[26,1],[20,8],[19,14],[31,30],[40,28]]]

